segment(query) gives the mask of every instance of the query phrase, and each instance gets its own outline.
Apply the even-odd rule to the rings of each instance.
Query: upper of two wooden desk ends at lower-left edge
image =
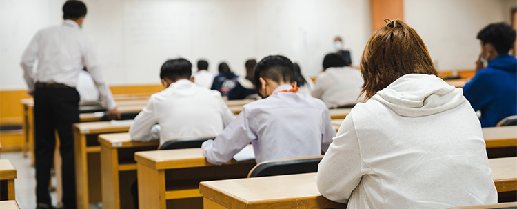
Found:
[[[0,200],[14,200],[14,179],[16,168],[9,159],[0,159]]]

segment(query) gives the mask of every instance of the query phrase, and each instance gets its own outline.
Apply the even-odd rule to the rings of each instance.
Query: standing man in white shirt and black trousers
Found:
[[[63,160],[63,206],[76,208],[74,136],[72,123],[79,122],[79,94],[75,87],[79,72],[88,69],[99,90],[100,99],[111,119],[120,117],[102,74],[93,41],[80,30],[86,15],[81,1],[66,1],[63,24],[39,30],[21,58],[21,66],[34,95],[34,154],[37,208],[52,208],[48,192],[57,130]],[[38,61],[34,72],[34,62]]]

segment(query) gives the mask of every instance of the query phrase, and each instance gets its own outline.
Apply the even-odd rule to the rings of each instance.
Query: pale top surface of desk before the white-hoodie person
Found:
[[[517,179],[517,157],[489,159],[489,163],[494,182]],[[200,192],[204,197],[209,197],[217,203],[233,202],[237,205],[299,202],[304,199],[310,199],[304,203],[316,203],[316,199],[323,197],[316,187],[315,176],[316,173],[313,172],[251,179],[205,181],[200,183]],[[334,203],[327,199],[323,201],[329,204]]]

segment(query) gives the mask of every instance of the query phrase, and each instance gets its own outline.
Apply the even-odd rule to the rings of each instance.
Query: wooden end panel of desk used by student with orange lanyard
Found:
[[[165,209],[165,170],[155,170],[137,163],[139,208]]]

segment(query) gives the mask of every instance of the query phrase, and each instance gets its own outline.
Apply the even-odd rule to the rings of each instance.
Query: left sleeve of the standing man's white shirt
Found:
[[[34,35],[29,46],[21,56],[21,68],[23,68],[23,79],[25,79],[29,90],[34,90],[34,62],[38,57],[39,32]]]

